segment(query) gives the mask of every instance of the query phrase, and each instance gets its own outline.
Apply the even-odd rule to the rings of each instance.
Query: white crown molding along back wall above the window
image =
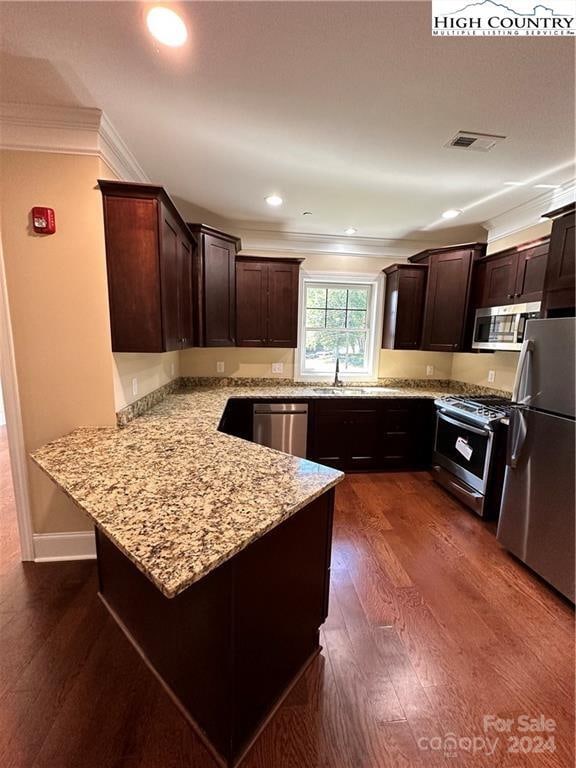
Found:
[[[426,248],[437,248],[438,240],[354,237],[280,230],[244,229],[241,222],[231,222],[242,240],[241,254],[270,253],[325,254],[365,256],[375,259],[407,259]]]

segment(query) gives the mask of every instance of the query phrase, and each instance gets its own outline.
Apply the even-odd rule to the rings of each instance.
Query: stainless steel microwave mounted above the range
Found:
[[[540,317],[540,301],[476,310],[472,349],[520,351],[526,322]]]

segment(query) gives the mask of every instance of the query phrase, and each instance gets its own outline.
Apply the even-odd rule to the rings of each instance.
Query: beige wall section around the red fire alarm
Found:
[[[25,448],[83,425],[114,424],[102,201],[95,157],[0,154],[2,243]],[[55,209],[56,234],[35,235],[30,209]],[[90,528],[29,461],[35,532]]]

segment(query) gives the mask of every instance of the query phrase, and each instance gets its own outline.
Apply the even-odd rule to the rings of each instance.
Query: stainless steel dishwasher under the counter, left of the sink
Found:
[[[256,403],[252,423],[255,443],[306,458],[306,403]]]

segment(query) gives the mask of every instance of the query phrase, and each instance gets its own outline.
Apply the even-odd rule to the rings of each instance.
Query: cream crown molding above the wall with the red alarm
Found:
[[[103,160],[124,181],[149,181],[100,109],[0,103],[0,147],[92,155]]]

